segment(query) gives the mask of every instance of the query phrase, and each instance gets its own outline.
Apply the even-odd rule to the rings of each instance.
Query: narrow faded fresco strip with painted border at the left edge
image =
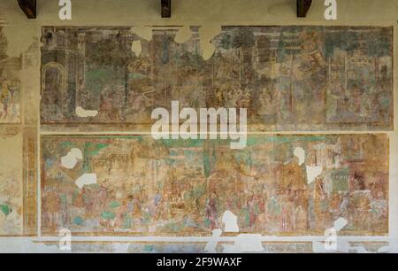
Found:
[[[38,68],[38,40],[18,58],[0,25],[0,236],[37,234],[37,105],[27,69]],[[40,75],[39,73],[37,75]],[[27,79],[29,77],[29,79]],[[22,103],[22,79],[28,89]],[[22,121],[22,105],[27,118]]]

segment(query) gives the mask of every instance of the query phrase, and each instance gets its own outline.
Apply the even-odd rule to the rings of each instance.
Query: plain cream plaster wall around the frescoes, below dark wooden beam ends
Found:
[[[42,26],[203,26],[210,33],[221,25],[341,25],[394,26],[394,78],[398,48],[398,0],[337,0],[338,19],[324,19],[324,0],[314,0],[307,18],[296,18],[295,0],[172,0],[172,18],[160,17],[159,0],[72,0],[73,19],[58,19],[57,0],[38,0],[38,18],[27,19],[16,0],[0,1],[0,24],[9,42],[9,56],[19,57]],[[24,88],[24,126],[39,120],[40,67],[22,71]],[[398,80],[394,80],[394,115],[398,116]],[[0,129],[4,129],[0,126]],[[394,119],[398,128],[398,118]],[[334,133],[334,132],[332,132]],[[347,133],[336,131],[335,133]],[[349,133],[358,133],[350,131]],[[366,133],[366,132],[361,132]],[[390,237],[398,247],[398,130],[390,137]],[[15,150],[16,152],[22,150]],[[0,163],[0,165],[3,165]],[[22,166],[22,165],[20,165]],[[0,170],[4,170],[1,168]],[[40,175],[40,174],[39,174]],[[371,240],[371,239],[369,239]]]

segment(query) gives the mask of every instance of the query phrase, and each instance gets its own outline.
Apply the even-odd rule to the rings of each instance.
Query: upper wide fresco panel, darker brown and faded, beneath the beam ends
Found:
[[[199,29],[176,43],[178,27],[150,41],[130,27],[43,27],[42,124],[145,126],[178,100],[248,108],[252,131],[393,129],[392,27],[222,27],[208,60]]]

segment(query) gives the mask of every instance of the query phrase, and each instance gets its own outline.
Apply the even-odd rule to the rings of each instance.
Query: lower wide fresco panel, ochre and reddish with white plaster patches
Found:
[[[240,233],[323,235],[342,217],[341,235],[384,235],[388,149],[385,135],[249,136],[241,151],[221,140],[42,136],[42,233],[210,236],[230,211]]]

